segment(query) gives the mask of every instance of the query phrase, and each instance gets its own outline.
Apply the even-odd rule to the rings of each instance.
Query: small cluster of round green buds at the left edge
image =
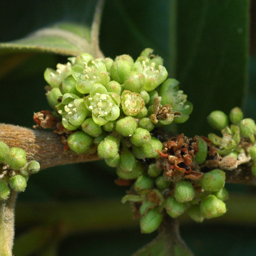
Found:
[[[6,200],[10,189],[22,192],[28,177],[39,172],[40,164],[34,160],[27,163],[26,152],[22,148],[9,148],[0,141],[0,200]]]

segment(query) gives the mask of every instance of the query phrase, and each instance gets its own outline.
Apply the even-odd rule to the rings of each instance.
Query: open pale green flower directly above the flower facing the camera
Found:
[[[96,83],[105,85],[110,81],[105,64],[97,60],[74,65],[72,75],[77,81],[76,89],[82,94],[89,93],[90,88]]]

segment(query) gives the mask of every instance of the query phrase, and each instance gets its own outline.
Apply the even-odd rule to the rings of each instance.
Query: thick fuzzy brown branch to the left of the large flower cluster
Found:
[[[36,160],[41,170],[63,164],[99,160],[97,151],[92,154],[76,154],[71,150],[64,152],[60,135],[52,131],[31,130],[25,127],[0,123],[0,141],[9,147],[19,147],[26,151],[27,160]]]

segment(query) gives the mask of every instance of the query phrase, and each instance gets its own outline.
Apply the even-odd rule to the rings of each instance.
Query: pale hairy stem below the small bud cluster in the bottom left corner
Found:
[[[0,256],[12,255],[16,196],[17,192],[11,189],[9,199],[0,201]]]

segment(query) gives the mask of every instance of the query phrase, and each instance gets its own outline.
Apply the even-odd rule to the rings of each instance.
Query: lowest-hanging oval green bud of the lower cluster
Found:
[[[156,209],[149,209],[145,216],[141,217],[139,224],[141,226],[141,233],[149,234],[159,228],[163,216]]]

